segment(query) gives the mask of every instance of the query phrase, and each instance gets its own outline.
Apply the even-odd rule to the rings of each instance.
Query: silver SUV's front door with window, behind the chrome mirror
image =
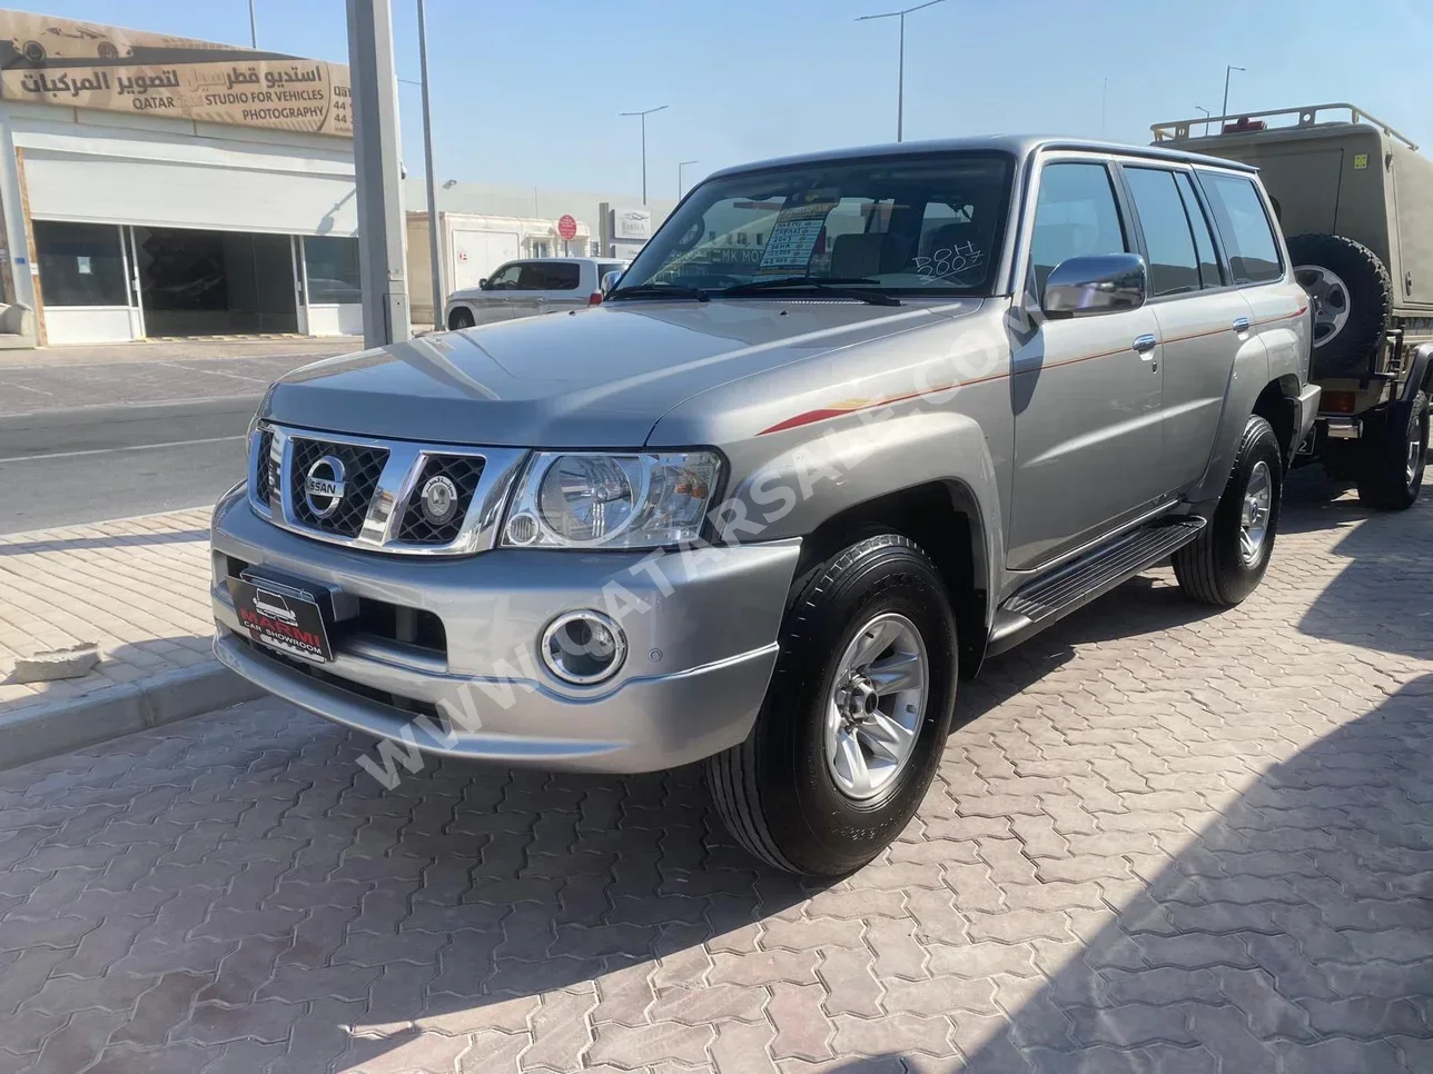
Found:
[[[1159,326],[1148,308],[1068,319],[1039,314],[1045,281],[1075,256],[1134,252],[1111,165],[1046,158],[1025,261],[1029,324],[1010,392],[1015,477],[1007,564],[1039,567],[1165,493]]]

